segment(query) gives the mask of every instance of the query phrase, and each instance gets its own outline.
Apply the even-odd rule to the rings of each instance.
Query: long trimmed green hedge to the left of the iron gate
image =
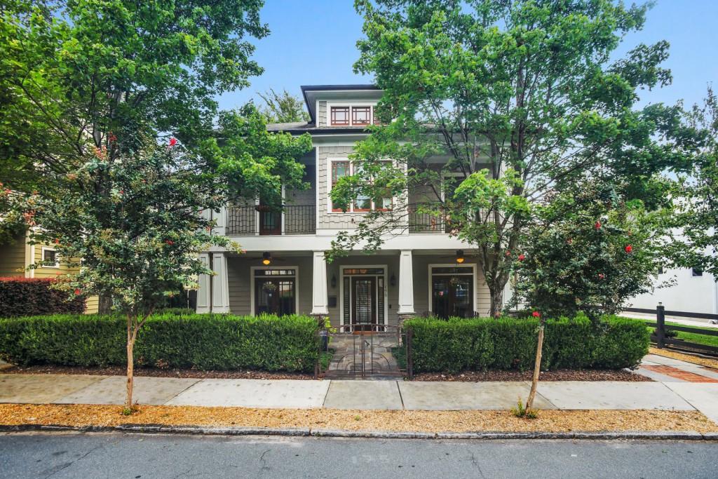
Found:
[[[136,366],[314,371],[317,321],[307,316],[154,315],[134,348]],[[20,365],[124,366],[126,319],[53,315],[0,320],[0,358]]]

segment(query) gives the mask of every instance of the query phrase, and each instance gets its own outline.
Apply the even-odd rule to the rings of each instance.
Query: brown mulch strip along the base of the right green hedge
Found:
[[[533,371],[464,371],[457,374],[419,373],[414,381],[531,381]],[[613,369],[564,369],[541,371],[540,381],[653,381],[632,371]]]

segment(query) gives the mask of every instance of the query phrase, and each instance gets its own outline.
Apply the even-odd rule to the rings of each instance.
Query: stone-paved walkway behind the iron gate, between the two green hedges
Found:
[[[332,335],[330,348],[335,350],[325,378],[402,378],[391,353],[398,345],[396,335],[377,333],[354,335],[339,333]]]

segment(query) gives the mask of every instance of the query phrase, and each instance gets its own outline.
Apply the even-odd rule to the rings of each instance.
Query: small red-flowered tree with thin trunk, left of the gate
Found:
[[[152,143],[112,162],[105,149],[97,149],[82,167],[55,178],[62,194],[14,199],[28,225],[37,226],[31,240],[51,244],[64,263],[79,269],[60,282],[68,297],[106,294],[126,316],[127,414],[142,325],[178,284],[194,285],[197,275],[213,274],[200,261],[201,251],[238,247],[213,234],[214,222],[200,214],[225,204],[225,180],[208,174],[208,165],[176,139]],[[109,195],[83,187],[98,175],[106,177]]]

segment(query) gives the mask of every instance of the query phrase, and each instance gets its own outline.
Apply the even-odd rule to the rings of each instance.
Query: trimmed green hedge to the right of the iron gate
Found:
[[[416,318],[411,328],[415,372],[533,368],[538,319],[438,320]],[[633,368],[648,353],[645,323],[604,317],[597,325],[585,316],[546,320],[541,369]]]

